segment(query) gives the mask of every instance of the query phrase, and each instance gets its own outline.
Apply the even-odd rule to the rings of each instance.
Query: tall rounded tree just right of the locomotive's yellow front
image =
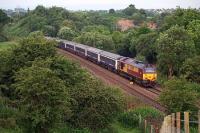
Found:
[[[159,69],[169,78],[179,76],[182,63],[195,52],[190,35],[183,27],[173,26],[160,34],[157,43]]]

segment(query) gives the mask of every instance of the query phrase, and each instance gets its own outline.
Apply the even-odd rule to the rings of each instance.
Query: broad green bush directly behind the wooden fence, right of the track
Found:
[[[159,100],[169,112],[197,112],[200,96],[200,85],[183,79],[171,79],[164,83]]]

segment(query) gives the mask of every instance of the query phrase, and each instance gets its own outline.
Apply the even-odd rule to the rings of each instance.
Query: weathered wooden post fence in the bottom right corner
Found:
[[[189,112],[172,113],[164,118],[160,127],[144,120],[144,133],[200,133],[200,111],[196,116],[191,120]]]

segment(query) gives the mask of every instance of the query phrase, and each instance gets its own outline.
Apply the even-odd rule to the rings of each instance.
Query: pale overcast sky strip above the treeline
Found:
[[[123,9],[129,4],[136,8],[200,8],[200,0],[0,0],[0,8],[14,9],[16,7],[34,9],[37,5],[45,7],[59,6],[70,10],[104,10]]]

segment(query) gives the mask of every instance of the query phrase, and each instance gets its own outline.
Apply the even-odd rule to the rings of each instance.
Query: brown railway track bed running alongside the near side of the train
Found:
[[[119,86],[124,90],[124,92],[139,98],[144,103],[151,105],[160,111],[166,111],[166,109],[162,107],[157,101],[159,91],[155,91],[153,89],[146,89],[137,84],[130,84],[130,82],[127,79],[122,78],[121,76],[107,69],[104,69],[88,60],[85,60],[65,50],[57,49],[57,52],[63,56],[66,56],[67,58],[78,61],[82,67],[87,69],[96,77],[100,78],[105,83],[109,85]]]

